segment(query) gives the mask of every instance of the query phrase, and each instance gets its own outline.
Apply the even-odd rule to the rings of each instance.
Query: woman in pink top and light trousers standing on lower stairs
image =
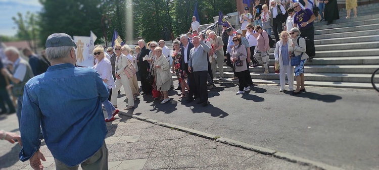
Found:
[[[261,52],[264,72],[263,74],[268,74],[268,52],[270,50],[270,45],[268,44],[268,34],[261,26],[255,26],[255,31],[259,34],[257,37],[257,46],[255,47],[254,53]]]

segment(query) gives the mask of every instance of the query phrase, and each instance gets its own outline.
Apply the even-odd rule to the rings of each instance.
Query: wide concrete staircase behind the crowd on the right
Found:
[[[341,19],[335,24],[315,23],[316,56],[304,67],[307,86],[372,88],[371,74],[379,68],[379,4],[360,6],[357,11],[357,18],[345,19],[346,10],[341,9]],[[263,75],[262,67],[249,69],[254,83],[279,83],[273,51],[271,48],[269,74]],[[228,79],[222,81],[231,81],[232,69],[226,64],[223,68]]]

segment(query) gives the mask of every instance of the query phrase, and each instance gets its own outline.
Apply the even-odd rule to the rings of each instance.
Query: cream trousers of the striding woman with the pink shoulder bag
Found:
[[[125,95],[128,98],[128,106],[134,106],[133,94],[130,88],[129,79],[126,74],[120,76],[121,79],[116,79],[115,87],[112,88],[112,97],[111,103],[117,105],[117,93],[121,89],[121,86],[124,86]]]

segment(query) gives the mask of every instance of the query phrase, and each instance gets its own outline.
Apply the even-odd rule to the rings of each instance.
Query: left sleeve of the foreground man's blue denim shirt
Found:
[[[23,148],[19,154],[21,161],[26,161],[32,157],[41,144],[39,129],[42,114],[34,101],[35,98],[33,98],[32,94],[29,93],[29,89],[25,86],[20,125],[21,141],[23,144]]]

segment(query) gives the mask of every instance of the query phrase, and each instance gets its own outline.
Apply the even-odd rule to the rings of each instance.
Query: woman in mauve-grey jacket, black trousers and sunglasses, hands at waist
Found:
[[[234,75],[239,80],[239,91],[235,94],[243,94],[250,89],[246,77],[250,77],[250,72],[246,67],[248,54],[245,45],[242,44],[241,35],[236,35],[232,39],[234,47],[231,49],[230,61],[233,63]]]

